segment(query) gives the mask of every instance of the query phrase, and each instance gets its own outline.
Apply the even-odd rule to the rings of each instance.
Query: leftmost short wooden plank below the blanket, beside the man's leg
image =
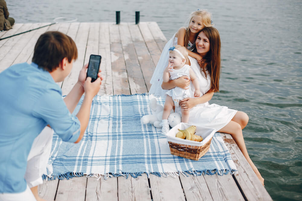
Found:
[[[46,200],[54,200],[58,184],[59,179],[55,179],[52,181],[43,181],[43,184],[40,184],[38,186],[39,197]]]

